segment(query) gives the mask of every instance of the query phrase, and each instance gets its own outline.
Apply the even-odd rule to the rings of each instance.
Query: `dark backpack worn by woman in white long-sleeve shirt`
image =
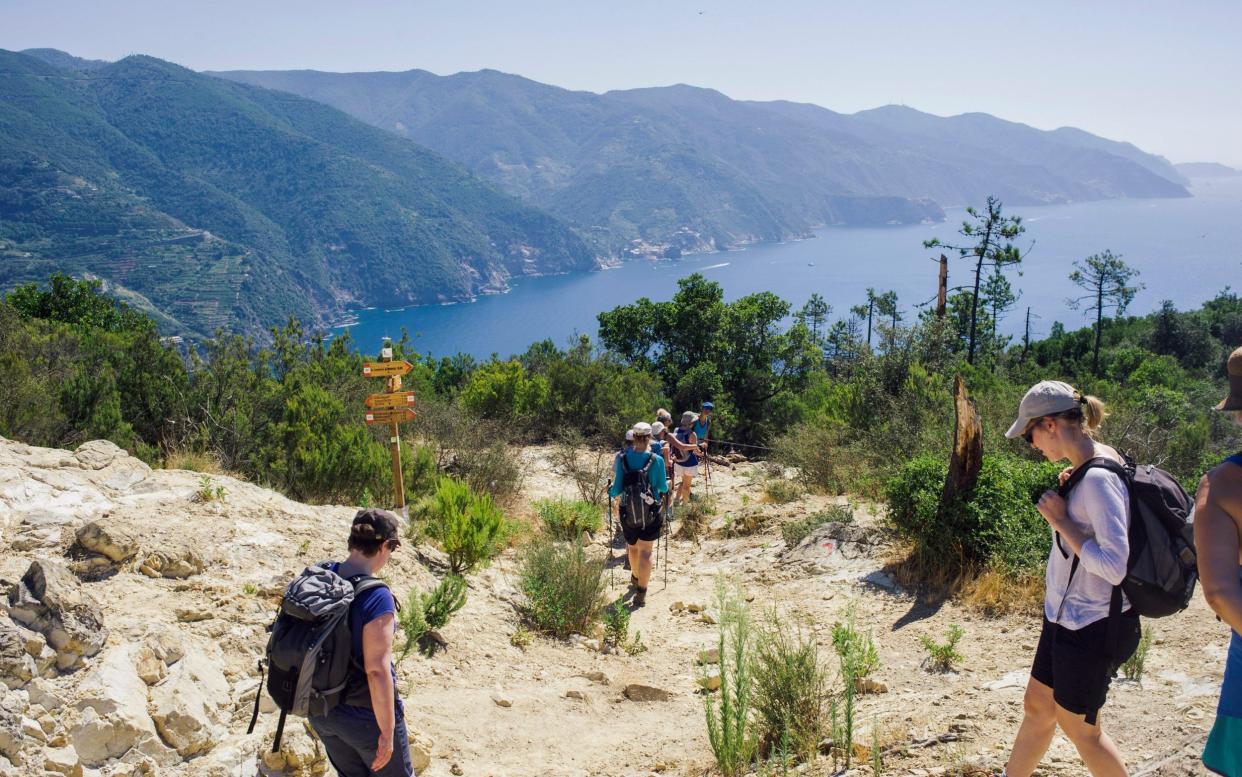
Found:
[[[1124,467],[1108,458],[1084,462],[1061,487],[1061,495],[1068,496],[1087,470],[1093,468],[1119,475],[1130,494],[1130,557],[1125,578],[1113,590],[1110,617],[1122,612],[1122,591],[1140,616],[1163,618],[1181,612],[1190,603],[1199,581],[1195,503],[1167,472],[1151,464],[1135,467],[1129,458]],[[1061,545],[1059,535],[1057,547],[1066,557],[1069,556]],[[1071,582],[1077,568],[1078,556],[1074,556],[1069,567]]]

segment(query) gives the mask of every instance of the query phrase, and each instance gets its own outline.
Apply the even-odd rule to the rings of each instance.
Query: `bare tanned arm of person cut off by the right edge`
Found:
[[[1238,581],[1238,524],[1226,508],[1242,514],[1242,485],[1217,468],[1195,495],[1195,551],[1203,598],[1222,621],[1242,634],[1242,582]]]

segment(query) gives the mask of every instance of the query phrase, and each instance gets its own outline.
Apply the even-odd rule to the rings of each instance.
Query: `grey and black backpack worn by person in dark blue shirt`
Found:
[[[347,698],[351,704],[369,704],[361,660],[353,655],[349,606],[364,591],[383,586],[369,575],[342,577],[323,562],[308,566],[284,590],[276,621],[268,627],[272,636],[265,660],[258,663],[260,685],[266,665],[267,693],[281,710],[272,752],[281,748],[286,715],[325,715]],[[262,691],[256,690],[246,734],[255,730]],[[366,691],[366,698],[350,698],[350,691]]]

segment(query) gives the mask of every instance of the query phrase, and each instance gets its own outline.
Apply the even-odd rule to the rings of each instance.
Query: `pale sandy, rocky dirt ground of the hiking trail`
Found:
[[[283,582],[301,566],[343,552],[353,508],[312,508],[292,503],[258,487],[230,478],[212,480],[227,490],[224,500],[199,501],[199,475],[149,472],[113,454],[103,469],[83,468],[65,452],[27,448],[0,441],[0,578],[17,581],[32,559],[72,564],[75,531],[88,520],[107,518],[125,526],[148,550],[175,556],[186,549],[202,559],[202,570],[185,578],[150,577],[127,562],[82,583],[99,602],[109,631],[103,650],[83,669],[45,683],[67,703],[52,720],[51,741],[72,743],[81,730],[78,716],[91,714],[77,703],[83,678],[116,650],[138,645],[153,624],[171,629],[188,650],[201,652],[222,669],[227,694],[220,700],[224,720],[209,751],[183,757],[159,741],[135,746],[123,756],[87,765],[86,775],[139,775],[133,765],[150,761],[161,777],[251,777],[323,773],[322,753],[294,732],[306,753],[298,763],[258,766],[271,742],[276,716],[265,712],[260,731],[243,734],[255,662],[263,645],[263,628]],[[94,444],[94,443],[92,443]],[[549,463],[548,452],[528,448],[524,499],[575,496],[568,479]],[[140,464],[140,463],[139,463]],[[893,551],[879,519],[856,509],[857,526],[848,536],[787,549],[780,528],[843,500],[807,495],[789,504],[764,501],[769,477],[754,464],[713,468],[717,501],[714,530],[699,542],[674,540],[660,559],[647,606],[633,613],[631,629],[648,650],[636,657],[601,654],[586,647],[537,637],[527,649],[509,643],[519,626],[517,562],[510,550],[469,580],[469,601],[442,631],[446,652],[427,659],[410,655],[399,667],[406,714],[415,739],[430,752],[428,777],[502,776],[699,776],[709,773],[703,696],[698,693],[696,657],[714,647],[717,627],[698,614],[672,612],[674,602],[710,604],[719,576],[739,582],[753,595],[753,612],[776,612],[818,638],[833,668],[830,629],[846,607],[857,602],[863,628],[874,633],[881,668],[876,679],[887,693],[861,698],[856,741],[869,743],[878,727],[883,745],[919,742],[951,735],[955,741],[894,752],[884,771],[930,777],[960,773],[974,763],[999,771],[1021,717],[1022,688],[1035,642],[1036,617],[984,618],[954,602],[924,602],[900,590],[884,572]],[[697,490],[703,489],[699,483]],[[723,536],[725,516],[761,515],[748,536]],[[604,552],[602,539],[595,545]],[[435,560],[428,551],[425,559]],[[664,566],[668,585],[663,586]],[[428,588],[435,576],[419,554],[402,550],[385,577],[404,596],[411,587]],[[616,570],[612,595],[623,591],[627,573]],[[961,624],[963,668],[930,674],[919,637],[941,638],[950,623]],[[1201,596],[1174,618],[1153,621],[1155,644],[1143,685],[1114,684],[1103,720],[1131,770],[1154,763],[1158,775],[1206,773],[1197,748],[1211,725],[1225,663],[1227,629]],[[589,673],[602,673],[604,680]],[[55,673],[53,673],[55,674]],[[163,683],[163,680],[160,681]],[[155,698],[160,683],[152,685]],[[669,691],[668,701],[636,703],[622,696],[630,683]],[[27,689],[29,690],[29,689]],[[27,690],[10,690],[7,701],[26,705]],[[566,696],[576,691],[580,698]],[[2,693],[2,689],[0,689]],[[16,694],[16,695],[15,695]],[[505,703],[502,706],[499,703]],[[145,699],[139,701],[145,706]],[[145,714],[145,711],[143,711]],[[52,716],[56,717],[56,716]],[[2,721],[0,721],[2,722]],[[42,745],[31,757],[42,758]],[[51,745],[48,745],[51,747]],[[39,762],[40,768],[42,762]],[[91,768],[94,766],[94,768]],[[274,766],[274,767],[273,767]],[[857,773],[871,771],[858,767]],[[41,771],[4,773],[41,773]],[[330,773],[330,770],[329,770]],[[820,760],[800,775],[832,773]],[[1042,773],[1086,775],[1072,745],[1057,736]]]

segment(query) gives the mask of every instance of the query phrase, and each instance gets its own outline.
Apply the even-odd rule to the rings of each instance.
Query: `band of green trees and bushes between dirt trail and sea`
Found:
[[[421,357],[402,339],[395,355],[415,364],[406,387],[420,412],[402,427],[407,489],[417,499],[448,472],[504,504],[522,475],[510,444],[607,449],[656,407],[710,397],[722,448],[760,446],[744,451],[796,467],[806,488],[886,500],[917,554],[934,545],[945,562],[1023,578],[1048,542],[1031,496],[1057,467],[1002,433],[1037,380],[1064,379],[1104,398],[1104,441],[1187,489],[1242,448],[1238,427],[1210,410],[1226,391],[1225,357],[1242,343],[1232,290],[1197,310],[1166,303],[1104,319],[1098,372],[1094,331],[1061,324],[1025,345],[986,334],[968,364],[961,305],[959,297],[944,318],[909,324],[877,318],[868,345],[868,305],[830,323],[809,304],[790,323],[787,303],[771,294],[724,303],[717,284],[692,276],[673,303],[601,314],[605,349],[586,338],[544,341],[476,362]],[[992,333],[986,315],[982,324]],[[296,320],[270,334],[271,348],[227,335],[183,359],[153,320],[97,282],[57,276],[21,287],[0,303],[0,434],[61,447],[108,438],[156,464],[196,462],[308,501],[384,501],[388,449],[363,423],[363,400],[376,388],[361,377],[364,356],[348,335],[325,343]],[[944,513],[955,374],[977,401],[985,462],[975,490]]]

